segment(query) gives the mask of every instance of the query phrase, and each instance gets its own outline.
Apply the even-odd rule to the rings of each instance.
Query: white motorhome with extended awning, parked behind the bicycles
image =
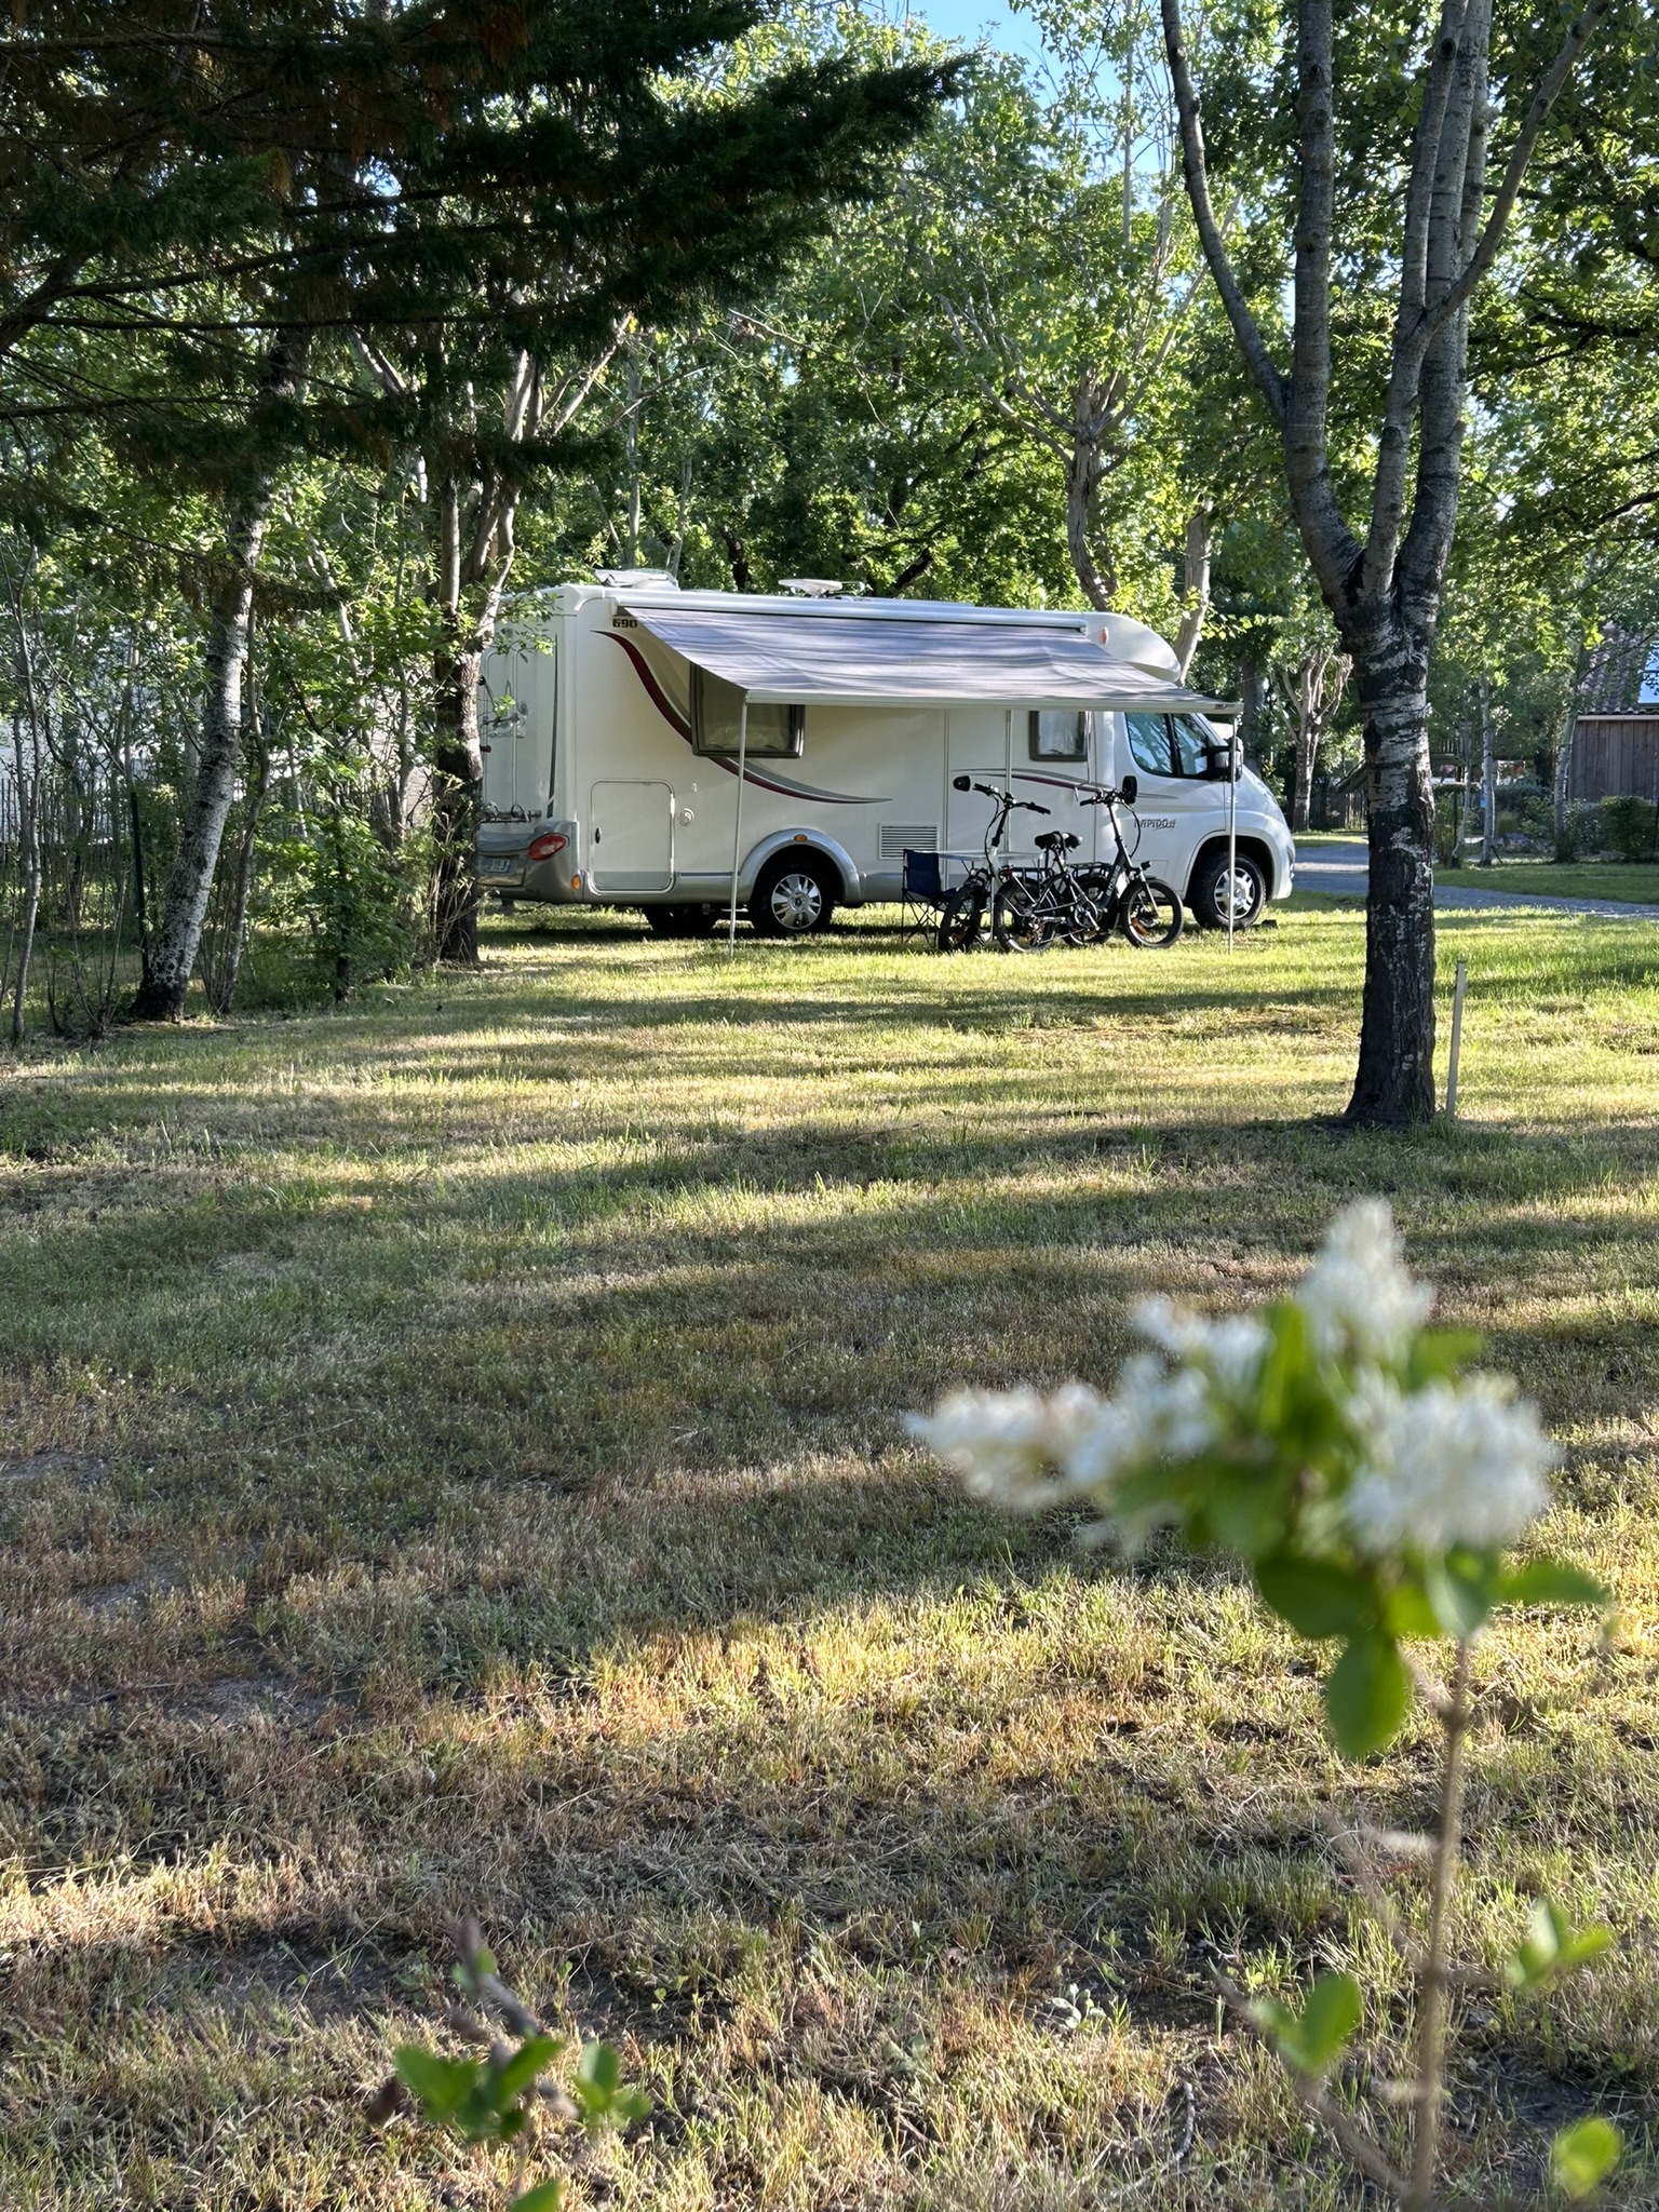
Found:
[[[670,925],[737,880],[759,927],[805,929],[898,898],[907,847],[975,856],[987,801],[958,776],[1013,779],[1108,858],[1073,794],[1135,774],[1139,858],[1201,922],[1228,896],[1248,922],[1290,891],[1294,847],[1259,776],[1228,787],[1206,710],[1121,615],[564,584],[518,602],[484,659],[480,878]]]

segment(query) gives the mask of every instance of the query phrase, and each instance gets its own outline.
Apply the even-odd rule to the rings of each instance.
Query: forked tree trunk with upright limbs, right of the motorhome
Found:
[[[1491,0],[1438,0],[1400,204],[1394,336],[1371,513],[1349,526],[1329,467],[1334,383],[1334,0],[1296,0],[1292,361],[1267,347],[1210,197],[1181,0],[1161,0],[1188,199],[1239,352],[1281,434],[1292,513],[1365,712],[1369,891],[1365,1004],[1347,1119],[1433,1117],[1433,779],[1429,661],[1458,526],[1469,301],[1493,268],[1526,166],[1610,0],[1588,7],[1537,82],[1486,206]],[[1360,363],[1356,376],[1365,378]]]

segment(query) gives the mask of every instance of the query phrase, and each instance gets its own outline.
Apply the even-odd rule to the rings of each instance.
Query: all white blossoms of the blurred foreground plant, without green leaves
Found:
[[[1358,1444],[1340,1500],[1349,1540],[1369,1557],[1515,1542],[1548,1504],[1555,1447],[1537,1411],[1498,1376],[1407,1394],[1389,1371],[1427,1321],[1433,1290],[1407,1274],[1380,1199],[1343,1208],[1296,1303],[1318,1352],[1345,1371],[1343,1411]],[[1139,1305],[1135,1325],[1157,1349],[1124,1363],[1110,1398],[1082,1383],[1053,1396],[962,1389],[931,1416],[914,1416],[911,1433],[956,1467],[975,1498],[1020,1511],[1088,1498],[1135,1542],[1157,1515],[1126,1517],[1117,1486],[1248,1436],[1272,1343],[1252,1314],[1208,1321],[1168,1298]]]

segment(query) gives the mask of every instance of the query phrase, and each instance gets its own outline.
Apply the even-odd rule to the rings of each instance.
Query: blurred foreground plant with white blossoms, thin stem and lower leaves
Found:
[[[1418,1980],[1409,2174],[1325,2090],[1363,2020],[1358,1982],[1321,1975],[1301,2013],[1245,2006],[1228,1986],[1354,2163],[1409,2208],[1433,2194],[1444,1995],[1471,1982],[1444,1953],[1471,1644],[1498,1606],[1608,1601],[1566,1562],[1506,1557],[1548,1504],[1557,1453],[1506,1378],[1469,1369],[1473,1336],[1427,1325],[1431,1305],[1433,1292],[1405,1267],[1389,1208],[1360,1199],[1336,1217],[1290,1298],[1223,1321],[1164,1298],[1139,1305],[1148,1349],[1124,1363],[1110,1396],[1077,1383],[1048,1396],[962,1389],[911,1420],[978,1498],[1026,1513],[1084,1504],[1086,1537],[1128,1551],[1170,1526],[1237,1553],[1272,1613],[1340,1646],[1323,1690],[1347,1756],[1383,1750],[1413,1697],[1429,1699],[1444,1752],[1438,1834],[1420,1854],[1431,1867],[1427,1942],[1396,1916],[1365,1836],[1336,1834]],[[1413,1639],[1451,1639],[1449,1688],[1407,1659]],[[1573,1929],[1542,1902],[1504,1980],[1537,1986],[1606,1942],[1604,1929]],[[1608,2121],[1579,2121],[1557,2137],[1555,2179],[1586,2194],[1617,2152]]]

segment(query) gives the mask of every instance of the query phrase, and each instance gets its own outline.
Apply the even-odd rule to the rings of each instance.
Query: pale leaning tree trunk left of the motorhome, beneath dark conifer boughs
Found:
[[[288,409],[305,374],[310,332],[283,330],[270,349],[252,407],[250,429],[279,409]],[[263,447],[261,447],[263,449]],[[186,807],[179,852],[168,878],[161,922],[150,947],[150,971],[139,984],[131,1015],[139,1022],[177,1022],[184,1015],[190,973],[201,949],[201,925],[208,916],[212,878],[219,867],[219,845],[226,816],[237,792],[237,754],[241,748],[241,684],[248,666],[248,626],[254,608],[254,571],[265,542],[265,524],[276,491],[276,467],[263,460],[232,507],[226,531],[230,575],[212,611],[206,655],[206,699],[201,708],[201,750],[195,790]]]

